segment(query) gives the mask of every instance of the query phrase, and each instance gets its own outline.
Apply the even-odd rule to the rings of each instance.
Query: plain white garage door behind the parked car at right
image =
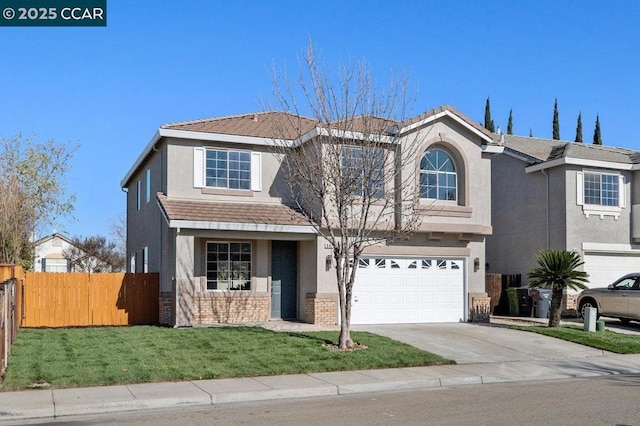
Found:
[[[606,287],[623,275],[640,272],[640,256],[586,253],[584,270],[589,274],[588,287]]]

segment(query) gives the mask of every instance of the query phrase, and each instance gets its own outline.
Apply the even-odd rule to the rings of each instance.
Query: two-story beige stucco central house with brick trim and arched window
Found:
[[[265,112],[163,125],[122,180],[127,268],[160,273],[161,323],[337,323],[331,249],[288,207],[274,154],[272,129],[284,118]],[[322,143],[319,123],[299,123],[301,143]],[[365,251],[352,323],[466,321],[471,298],[486,296],[490,157],[501,148],[448,106],[398,127],[402,144],[419,144],[413,167],[423,182],[430,175],[441,186],[420,188],[416,178],[425,197],[417,232]],[[438,165],[422,161],[427,155]]]

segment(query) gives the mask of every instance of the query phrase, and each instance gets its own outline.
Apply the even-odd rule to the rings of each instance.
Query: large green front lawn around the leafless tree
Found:
[[[153,326],[21,329],[2,389],[216,379],[451,364],[375,334],[354,332],[368,349],[334,352],[338,332],[282,333],[259,327]]]

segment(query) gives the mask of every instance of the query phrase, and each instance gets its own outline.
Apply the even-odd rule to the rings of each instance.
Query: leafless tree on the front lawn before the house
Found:
[[[420,143],[400,137],[410,103],[408,79],[394,76],[382,90],[365,62],[341,66],[334,78],[312,45],[297,83],[276,70],[272,78],[275,102],[287,113],[275,124],[275,150],[291,202],[333,251],[338,344],[351,348],[351,297],[363,251],[408,238],[419,225]]]

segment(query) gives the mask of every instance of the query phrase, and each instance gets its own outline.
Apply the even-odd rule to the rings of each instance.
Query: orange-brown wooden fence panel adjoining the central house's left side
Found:
[[[27,272],[23,327],[158,323],[158,274]]]

